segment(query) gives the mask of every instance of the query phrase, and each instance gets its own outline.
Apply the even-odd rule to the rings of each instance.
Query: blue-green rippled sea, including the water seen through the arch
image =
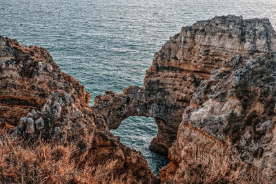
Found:
[[[268,18],[275,28],[276,0],[0,0],[0,34],[48,49],[93,105],[105,90],[142,86],[153,55],[181,27],[227,14]],[[130,117],[112,133],[140,150],[155,173],[168,162],[148,150],[154,119]]]

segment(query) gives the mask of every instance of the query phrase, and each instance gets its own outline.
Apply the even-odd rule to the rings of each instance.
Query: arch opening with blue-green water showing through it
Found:
[[[120,136],[121,143],[139,150],[148,161],[150,169],[155,174],[159,174],[161,167],[168,164],[166,156],[152,152],[150,142],[157,136],[158,127],[154,118],[145,116],[130,116],[121,121],[119,127],[110,130],[115,136]]]

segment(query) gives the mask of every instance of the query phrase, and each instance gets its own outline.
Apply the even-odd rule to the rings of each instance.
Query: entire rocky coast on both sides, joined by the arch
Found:
[[[113,164],[98,178],[103,183],[276,180],[276,32],[268,19],[229,15],[184,27],[155,54],[143,88],[106,91],[92,107],[83,85],[61,72],[44,48],[0,37],[0,79],[1,147],[13,140],[26,152],[41,150],[43,139],[49,147],[70,148],[59,159],[68,156],[75,174],[64,172],[63,181],[90,183],[95,167],[106,163]],[[159,176],[110,133],[129,116],[155,118],[158,135],[150,149],[170,159]],[[9,152],[1,154],[1,171],[18,165]],[[28,183],[30,168],[22,170]],[[0,180],[17,182],[20,174],[11,174]]]

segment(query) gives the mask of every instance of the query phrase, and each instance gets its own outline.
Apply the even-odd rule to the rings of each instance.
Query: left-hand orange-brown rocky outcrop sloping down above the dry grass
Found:
[[[114,178],[159,182],[141,153],[120,143],[104,117],[88,106],[90,94],[83,85],[62,73],[44,48],[0,37],[0,79],[0,122],[2,127],[16,126],[10,132],[13,138],[70,147],[75,170],[112,160]]]

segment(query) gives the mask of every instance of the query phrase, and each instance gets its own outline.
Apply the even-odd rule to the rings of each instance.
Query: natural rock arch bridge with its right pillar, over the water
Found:
[[[117,129],[121,121],[130,116],[155,118],[158,134],[156,138],[152,139],[150,150],[166,155],[168,148],[176,139],[178,124],[167,123],[172,119],[175,120],[175,117],[168,116],[171,111],[168,108],[168,101],[158,100],[164,95],[161,93],[151,96],[144,88],[133,85],[126,88],[122,94],[106,91],[104,95],[96,96],[92,109],[103,114],[110,130]],[[181,122],[181,119],[175,120],[175,122]]]

